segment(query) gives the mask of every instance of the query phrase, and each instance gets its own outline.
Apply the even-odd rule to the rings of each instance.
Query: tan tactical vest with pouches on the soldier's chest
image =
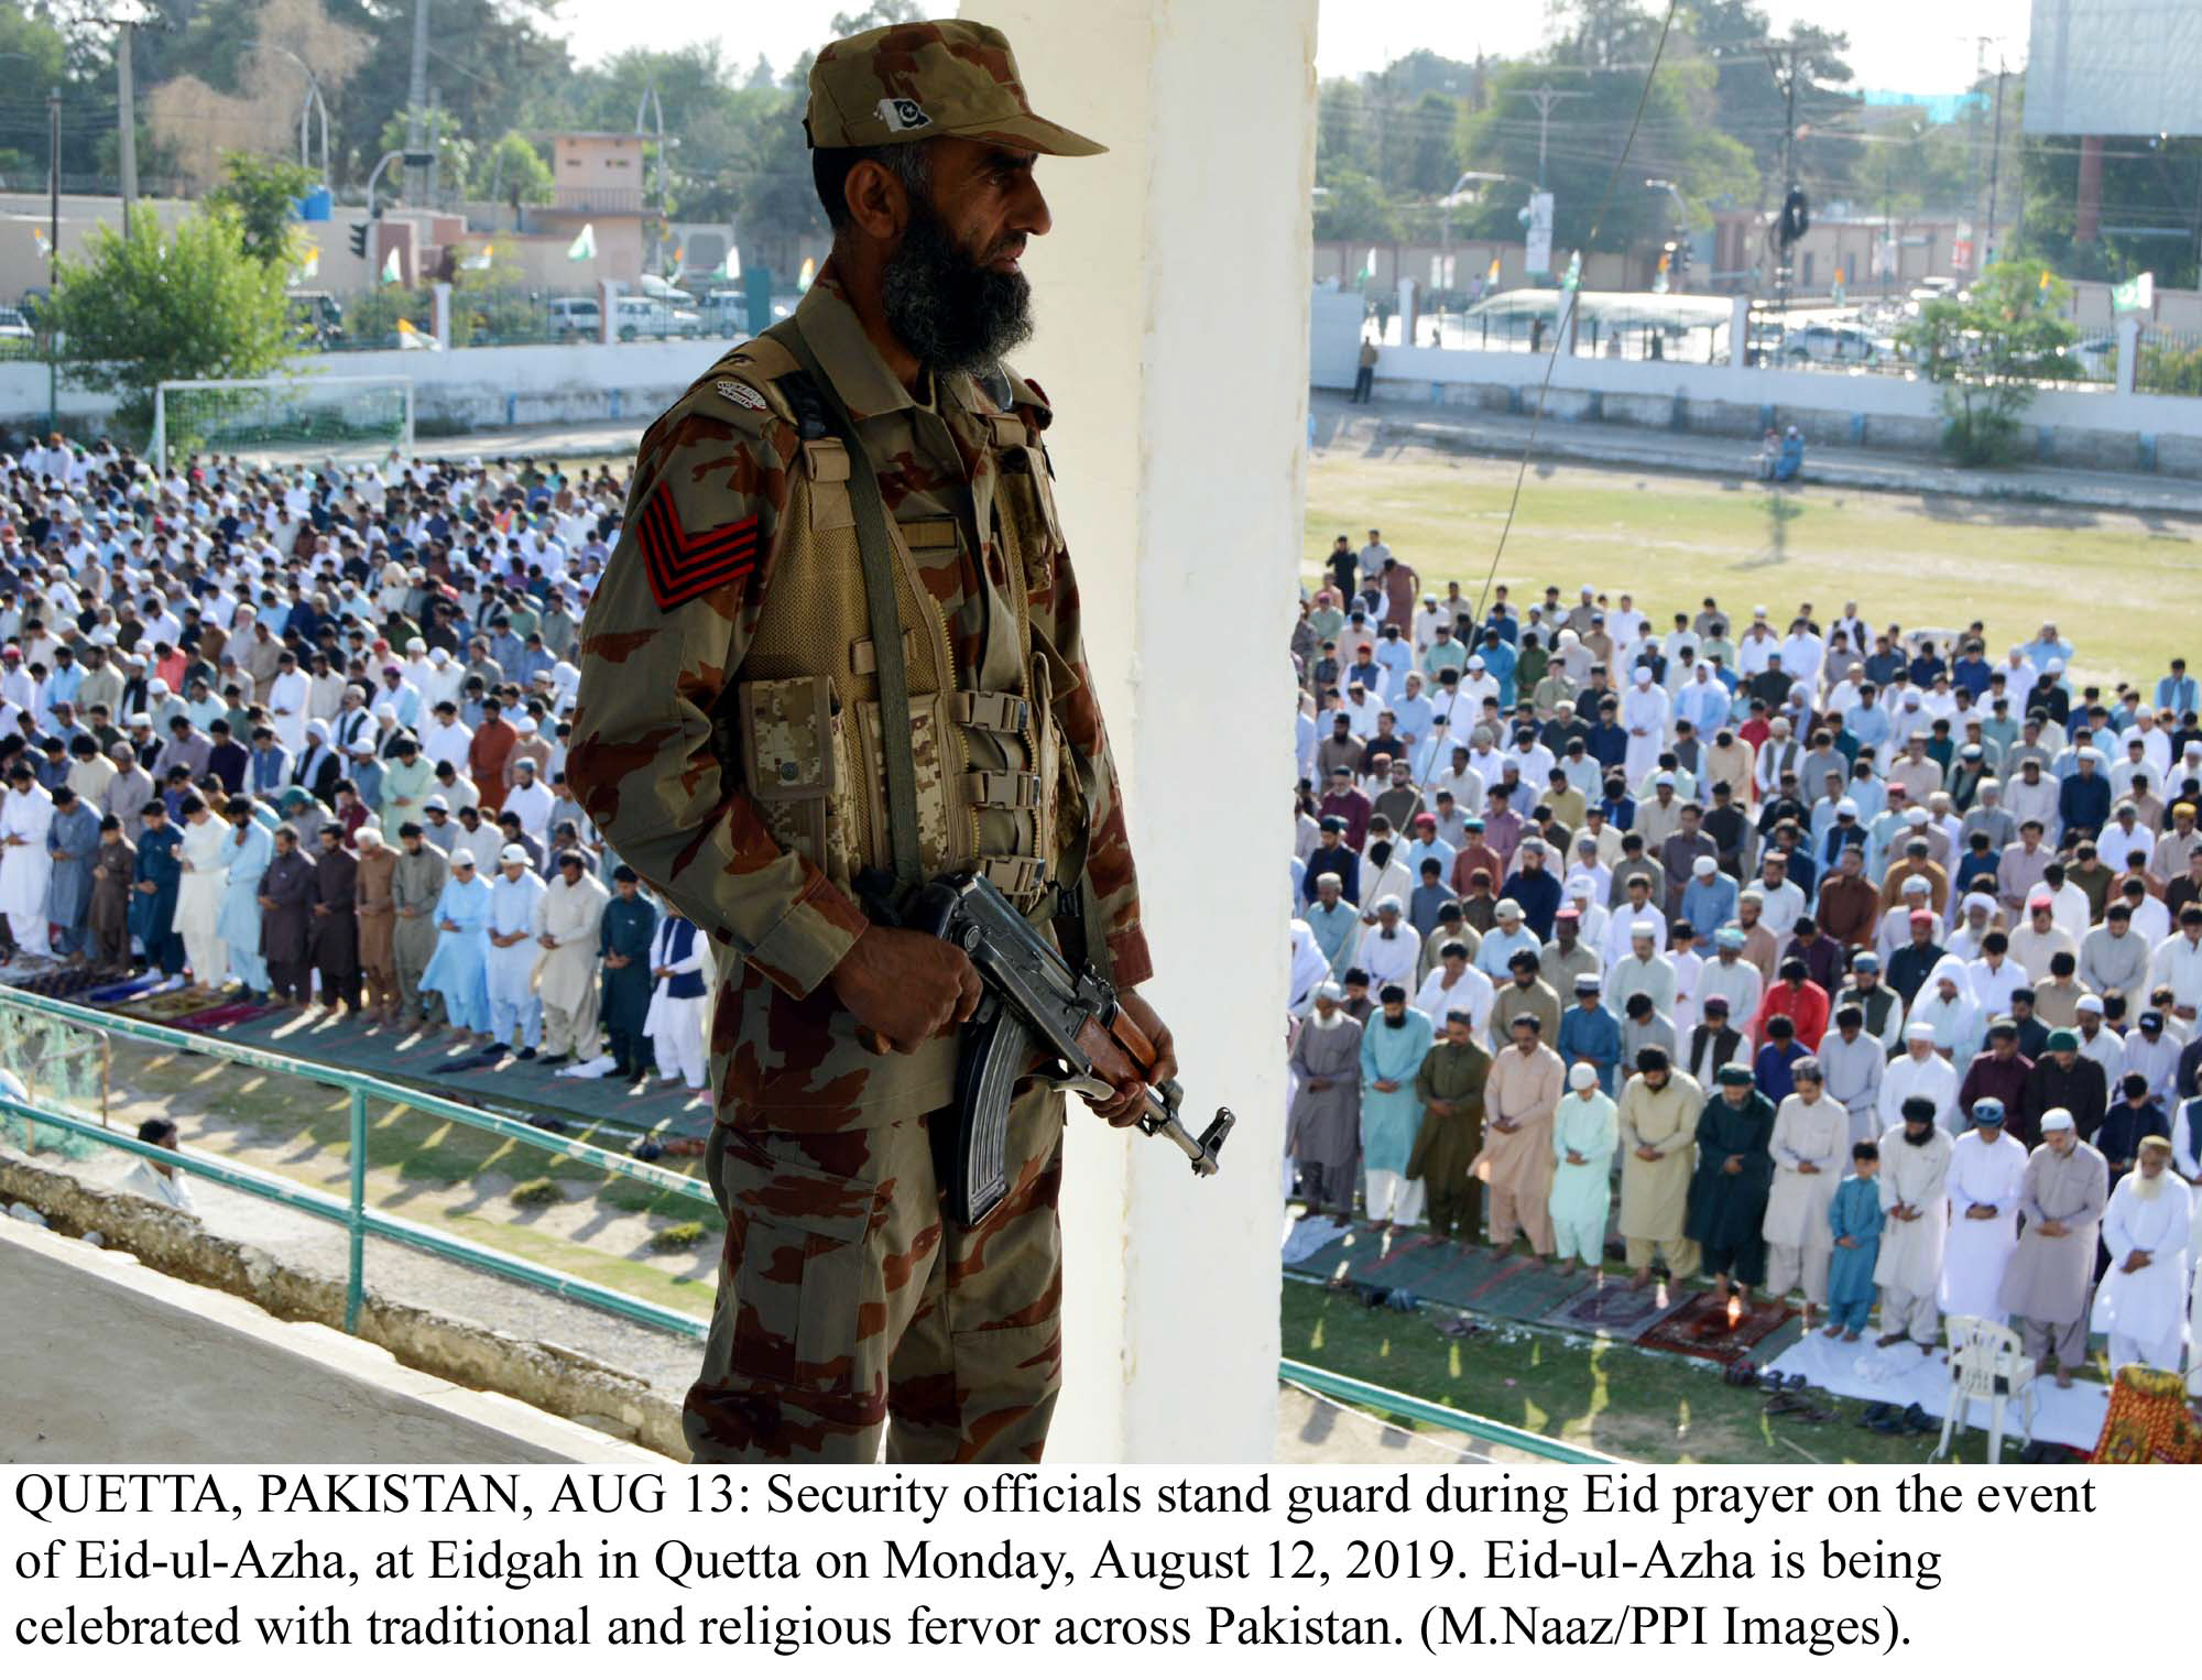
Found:
[[[861,903],[857,879],[892,872],[883,731],[907,731],[923,874],[978,870],[1026,914],[1053,912],[1046,887],[1072,885],[1083,872],[1086,810],[1053,709],[1077,676],[1028,610],[1028,592],[1046,581],[1059,546],[1037,429],[1022,414],[982,416],[993,425],[998,476],[993,506],[973,509],[978,542],[991,535],[1000,546],[1006,590],[986,575],[982,555],[969,572],[989,592],[989,612],[1011,614],[1022,650],[1015,687],[982,689],[975,674],[960,680],[947,614],[920,577],[958,564],[960,522],[890,513],[909,711],[883,718],[850,451],[775,337],[751,339],[713,372],[722,370],[755,385],[802,443],[771,588],[733,685],[735,709],[718,720],[731,735],[718,742],[720,760],[742,766],[773,837]]]

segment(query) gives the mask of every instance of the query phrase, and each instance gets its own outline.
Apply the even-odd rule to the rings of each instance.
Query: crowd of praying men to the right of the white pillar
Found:
[[[1337,537],[1293,658],[1310,1213],[1599,1281],[1612,1242],[1636,1288],[1801,1297],[1843,1341],[1878,1301],[1883,1348],[1991,1319],[2061,1385],[2090,1328],[2114,1365],[2202,1348],[2184,661],[1440,594],[1381,531]]]

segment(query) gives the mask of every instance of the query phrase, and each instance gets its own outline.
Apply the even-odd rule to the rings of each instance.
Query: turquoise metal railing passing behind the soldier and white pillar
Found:
[[[513,1143],[528,1143],[553,1154],[568,1156],[573,1160],[584,1160],[608,1174],[621,1178],[632,1178],[654,1189],[683,1196],[707,1207],[718,1207],[707,1185],[683,1174],[665,1171],[663,1167],[652,1167],[645,1160],[634,1160],[630,1156],[612,1154],[610,1149],[597,1149],[588,1143],[577,1143],[564,1138],[557,1132],[546,1132],[526,1121],[513,1121],[502,1114],[491,1114],[480,1108],[469,1108],[465,1103],[454,1103],[445,1097],[434,1097],[425,1090],[414,1090],[412,1086],[399,1086],[388,1079],[377,1079],[372,1074],[348,1072],[344,1068],[330,1068],[319,1061],[299,1061],[295,1057],[277,1055],[273,1050],[262,1050],[251,1044],[231,1044],[227,1039],[205,1037],[200,1033],[185,1033],[174,1026],[161,1026],[156,1022],[141,1022],[130,1015],[110,1015],[108,1011],[86,1008],[84,1004],[66,1004],[55,997],[40,997],[37,993],[20,991],[15,986],[0,986],[0,1008],[22,1011],[31,1015],[44,1015],[55,1022],[68,1022],[73,1026],[86,1026],[112,1037],[132,1039],[137,1044],[159,1046],[167,1050],[185,1050],[192,1055],[216,1057],[220,1061],[231,1061],[242,1068],[258,1068],[262,1072],[291,1074],[295,1079],[306,1079],[315,1086],[328,1086],[333,1090],[346,1092],[350,1099],[350,1187],[348,1193],[337,1198],[306,1185],[297,1185],[280,1174],[260,1171],[258,1167],[244,1167],[233,1160],[220,1160],[216,1156],[163,1149],[156,1143],[139,1143],[130,1132],[112,1130],[99,1121],[88,1121],[77,1114],[66,1114],[48,1103],[24,1103],[7,1092],[0,1092],[0,1119],[18,1121],[24,1132],[24,1141],[31,1143],[33,1127],[53,1127],[57,1132],[68,1132],[92,1143],[103,1143],[110,1149],[123,1149],[143,1160],[161,1163],[167,1167],[181,1167],[183,1171],[205,1178],[209,1185],[222,1185],[225,1189],[240,1191],[244,1196],[258,1196],[262,1200],[288,1207],[295,1213],[308,1213],[317,1220],[330,1220],[341,1224],[350,1235],[346,1288],[344,1288],[344,1328],[348,1334],[359,1334],[359,1310],[366,1301],[366,1242],[368,1237],[383,1237],[388,1242],[405,1244],[436,1259],[447,1259],[458,1266],[473,1266],[476,1270],[491,1273],[495,1277],[511,1279],[515,1284],[528,1284],[550,1295],[577,1301],[581,1306],[597,1308],[599,1312],[610,1312],[614,1317],[628,1319],[632,1323],[647,1326],[652,1330],[665,1330],[676,1337],[687,1337],[691,1341],[702,1341],[711,1332],[707,1319],[698,1319],[691,1312],[678,1312],[676,1308],[658,1306],[656,1301],[645,1301],[639,1295],[628,1295],[625,1290],[603,1288],[601,1284],[590,1284],[570,1273],[555,1270],[550,1266],[537,1266],[535,1262],[520,1259],[517,1255],[506,1255],[498,1248],[489,1248],[480,1242],[467,1242],[465,1237],[454,1237],[443,1231],[432,1231],[414,1220],[403,1220],[392,1213],[381,1213],[368,1207],[368,1101],[403,1103],[421,1114],[434,1114],[458,1125],[471,1125],[480,1132],[489,1132],[500,1138],[511,1138]],[[1533,1458],[1544,1458],[1555,1464],[1616,1464],[1621,1460],[1607,1458],[1583,1447],[1570,1447],[1566,1442],[1552,1440],[1548,1436],[1537,1436],[1528,1429],[1515,1429],[1513,1425],[1497,1422],[1493,1418],[1478,1418],[1469,1411],[1456,1411],[1451,1407],[1438,1405],[1434,1400],[1422,1400],[1414,1394],[1398,1394],[1374,1383],[1363,1383],[1354,1376],[1343,1376],[1339,1372],[1326,1372],[1317,1365],[1304,1365],[1295,1359],[1277,1361],[1277,1381],[1315,1389],[1334,1400],[1343,1400],[1356,1407],[1370,1407],[1376,1411],[1387,1411],[1396,1418],[1411,1418],[1416,1422],[1427,1422],[1440,1429],[1451,1429],[1456,1433],[1469,1436],[1473,1440],[1484,1440],[1495,1447],[1508,1447],[1513,1451],[1528,1453]]]

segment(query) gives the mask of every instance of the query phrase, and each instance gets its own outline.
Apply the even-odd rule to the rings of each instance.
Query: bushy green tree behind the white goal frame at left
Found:
[[[253,379],[291,354],[284,266],[253,258],[222,207],[172,233],[154,216],[134,216],[130,238],[92,229],[84,255],[62,258],[51,313],[68,379],[121,392],[117,418],[141,434],[163,379]]]

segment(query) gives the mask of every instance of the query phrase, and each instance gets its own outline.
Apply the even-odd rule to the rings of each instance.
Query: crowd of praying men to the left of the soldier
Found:
[[[707,940],[564,773],[623,498],[526,460],[0,456],[0,960],[702,1090]]]

